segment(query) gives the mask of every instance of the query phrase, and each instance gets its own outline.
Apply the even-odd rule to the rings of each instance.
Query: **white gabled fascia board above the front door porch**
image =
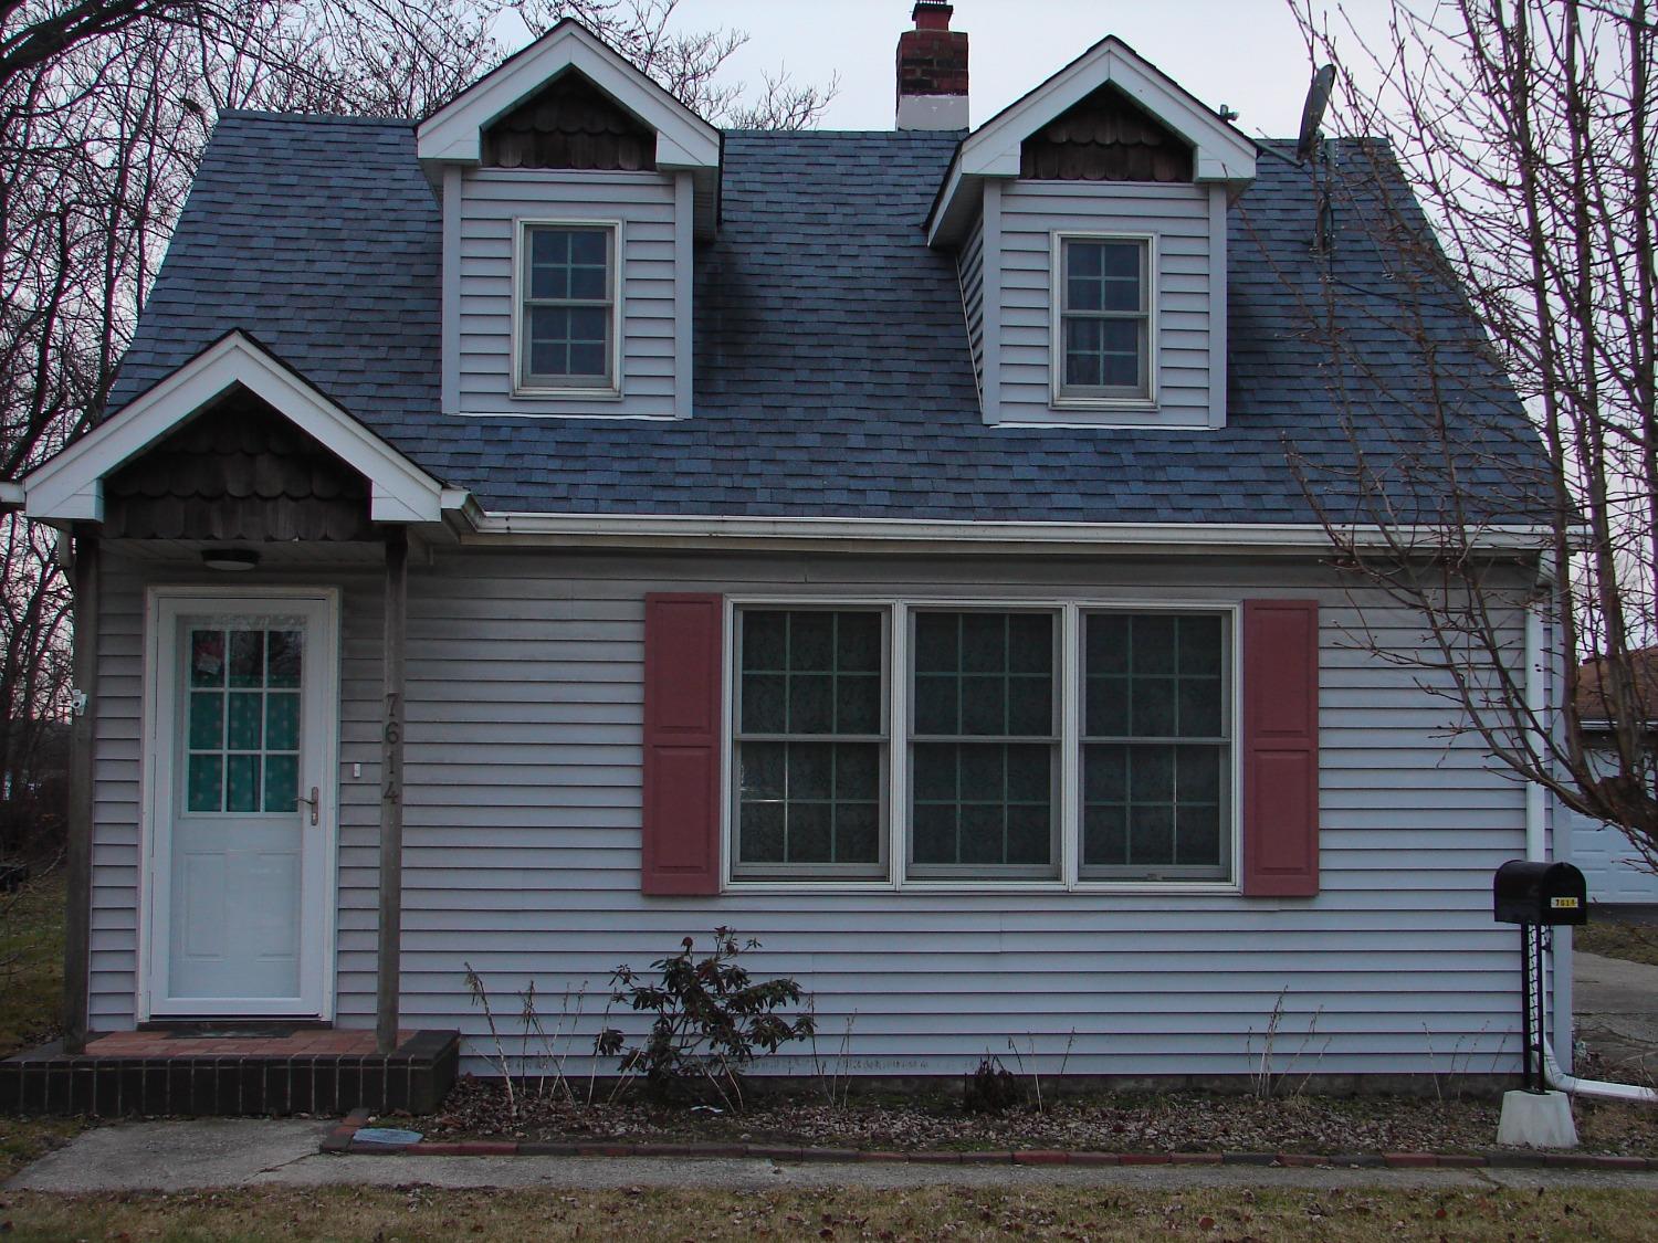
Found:
[[[225,336],[23,481],[25,514],[101,520],[103,479],[235,385],[280,411],[371,486],[376,522],[436,522],[443,487],[240,333]]]

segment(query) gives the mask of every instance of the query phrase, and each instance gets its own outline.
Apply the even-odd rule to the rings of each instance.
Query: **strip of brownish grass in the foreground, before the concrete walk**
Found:
[[[8,1240],[1650,1240],[1651,1192],[1038,1188],[0,1195]]]

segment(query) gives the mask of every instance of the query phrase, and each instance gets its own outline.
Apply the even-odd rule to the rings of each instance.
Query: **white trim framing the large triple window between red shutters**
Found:
[[[734,764],[731,729],[734,724],[733,676],[721,678],[720,706],[720,887],[723,893],[1119,893],[1119,895],[1209,895],[1237,897],[1244,892],[1244,658],[1242,641],[1244,605],[1240,600],[1214,600],[1202,597],[1139,598],[1139,597],[957,597],[957,595],[728,595],[725,597],[723,653],[726,668],[734,668],[736,610],[738,608],[887,608],[890,610],[887,665],[904,676],[890,676],[887,704],[887,817],[882,832],[887,834],[887,877],[884,880],[746,880],[733,875],[736,860],[734,822]],[[1051,610],[1059,615],[1059,877],[1054,880],[995,880],[948,878],[920,880],[905,875],[909,858],[909,626],[915,608],[1001,608],[1001,610]],[[1232,875],[1224,880],[1084,880],[1078,875],[1081,865],[1081,703],[1083,703],[1083,613],[1134,612],[1224,613],[1229,618],[1230,641],[1230,694],[1232,694],[1232,800],[1229,809]]]

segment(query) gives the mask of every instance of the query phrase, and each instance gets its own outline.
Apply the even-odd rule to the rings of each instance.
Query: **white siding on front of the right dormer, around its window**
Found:
[[[1207,428],[1219,424],[1224,391],[1212,386],[1215,330],[1214,283],[1225,282],[1225,217],[1212,210],[1207,186],[1152,186],[1079,181],[1011,181],[995,210],[1000,235],[1000,353],[996,380],[987,386],[991,423],[1101,423]],[[988,202],[988,201],[987,201]],[[988,210],[988,207],[987,207]],[[1056,403],[1053,361],[1056,237],[1149,237],[1156,257],[1151,308],[1156,401],[1116,409]],[[985,262],[995,262],[987,255]],[[1217,270],[1219,268],[1219,270]],[[987,280],[987,287],[990,282]],[[1224,288],[1219,290],[1224,293]],[[1220,298],[1224,302],[1224,297]],[[987,313],[987,322],[991,317]],[[1224,331],[1224,326],[1222,326]],[[1131,406],[1139,404],[1139,409]]]

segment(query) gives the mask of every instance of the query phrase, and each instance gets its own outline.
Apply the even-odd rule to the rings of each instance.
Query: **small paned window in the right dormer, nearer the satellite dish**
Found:
[[[1152,401],[1152,239],[1056,235],[1054,401]]]

